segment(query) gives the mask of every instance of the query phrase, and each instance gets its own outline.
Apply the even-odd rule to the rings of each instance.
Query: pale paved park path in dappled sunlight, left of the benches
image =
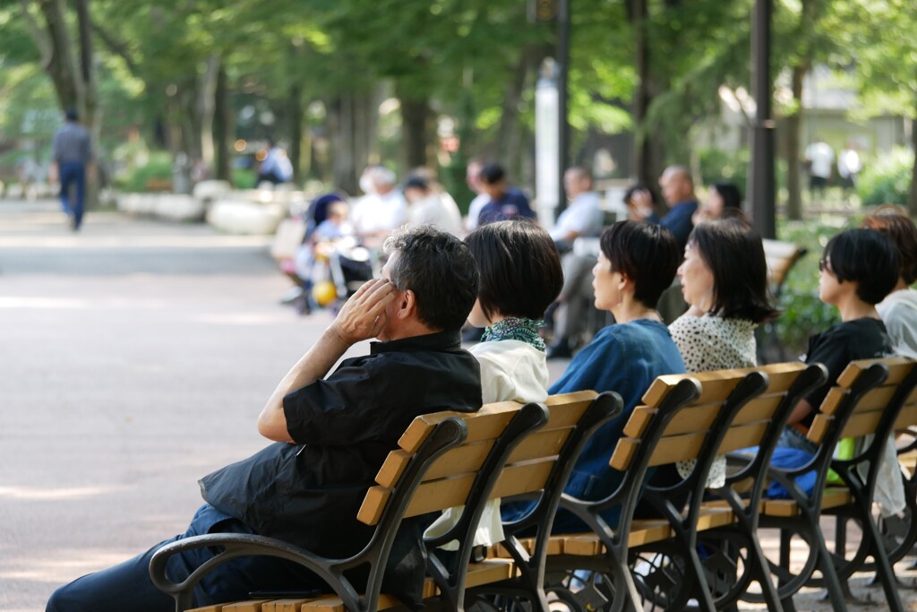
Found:
[[[0,200],[0,611],[183,531],[197,479],[265,444],[261,406],[330,320],[279,305],[268,244],[116,213],[72,234]]]

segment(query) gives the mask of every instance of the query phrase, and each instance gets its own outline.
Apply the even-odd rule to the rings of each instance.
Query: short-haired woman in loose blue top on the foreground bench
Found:
[[[586,443],[564,488],[565,493],[588,500],[611,495],[623,481],[623,474],[608,462],[649,384],[662,374],[684,372],[679,350],[656,312],[659,295],[672,283],[679,265],[675,239],[666,228],[619,221],[602,233],[601,244],[599,261],[592,269],[595,307],[610,310],[616,322],[577,353],[567,371],[548,389],[551,395],[585,389],[616,391],[624,399],[624,411]],[[668,482],[665,471],[657,470],[654,482]],[[521,505],[508,506],[504,517],[519,516],[511,515],[514,506]],[[618,513],[615,506],[603,517],[614,526]],[[584,528],[578,518],[561,509],[553,531],[570,533]]]

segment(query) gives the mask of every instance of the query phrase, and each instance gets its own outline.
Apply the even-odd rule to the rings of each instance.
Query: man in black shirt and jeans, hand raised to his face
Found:
[[[277,386],[258,428],[275,443],[200,481],[207,502],[186,534],[51,596],[48,610],[166,612],[171,597],[150,582],[148,566],[163,544],[203,533],[256,533],[318,554],[347,557],[372,529],[357,511],[389,451],[414,417],[481,406],[478,362],[460,347],[459,329],[478,293],[478,272],[460,240],[433,228],[390,239],[382,278],[364,284]],[[341,362],[370,338],[370,354]],[[386,590],[417,605],[423,584],[422,525],[406,520],[392,548]],[[182,580],[212,556],[206,549],[172,558]],[[312,574],[271,557],[227,562],[195,589],[195,605],[245,598],[252,590],[321,587]]]

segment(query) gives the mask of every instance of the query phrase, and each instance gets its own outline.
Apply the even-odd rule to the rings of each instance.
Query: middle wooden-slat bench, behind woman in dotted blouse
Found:
[[[626,437],[615,448],[612,467],[624,472],[618,490],[591,502],[555,492],[562,507],[580,517],[591,531],[554,536],[544,543],[514,538],[514,533],[525,533],[533,521],[544,519],[535,515],[518,525],[504,525],[510,536],[504,546],[517,564],[529,549],[533,559],[539,552],[547,553],[547,590],[575,609],[636,610],[642,599],[652,598],[657,605],[677,610],[691,597],[702,601],[705,609],[713,609],[713,593],[697,553],[698,533],[740,520],[754,525],[757,520],[757,512],[746,510],[741,503],[735,507],[701,503],[714,457],[754,446],[768,436],[776,440],[779,431],[774,422],[785,421],[795,400],[824,375],[820,366],[797,362],[658,377],[643,397],[645,406],[635,408],[624,429]],[[667,489],[652,485],[644,489],[647,470],[686,459],[698,460],[689,478]],[[766,465],[764,458],[758,469]],[[687,510],[669,501],[685,497],[691,498]],[[659,518],[634,518],[641,498],[657,507]],[[612,527],[601,513],[613,506],[620,508],[621,517]],[[747,547],[755,549],[756,544],[754,540]],[[680,563],[677,584],[673,581],[660,589],[646,576],[632,572],[635,561],[656,551],[666,555],[666,571]],[[762,560],[763,555],[756,552],[759,569],[754,575],[768,583],[769,573],[760,569]],[[577,578],[574,573],[581,570],[591,572],[593,578]],[[594,576],[602,578],[595,580]],[[521,586],[517,578],[504,582]],[[491,584],[481,588],[493,590]]]

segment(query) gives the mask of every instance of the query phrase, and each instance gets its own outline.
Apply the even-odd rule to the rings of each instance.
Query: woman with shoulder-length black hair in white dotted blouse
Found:
[[[744,217],[704,221],[691,231],[679,266],[681,295],[691,306],[668,326],[689,373],[757,365],[755,328],[777,311],[768,297],[768,262],[761,237]],[[682,477],[696,462],[679,462]],[[717,458],[708,484],[723,486]]]

